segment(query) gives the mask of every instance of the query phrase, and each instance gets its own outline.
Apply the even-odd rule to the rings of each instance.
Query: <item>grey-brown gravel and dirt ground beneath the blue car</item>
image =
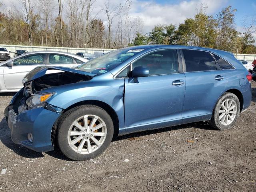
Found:
[[[84,162],[12,143],[3,115],[12,94],[0,94],[0,191],[256,191],[252,87],[252,104],[231,130],[199,122],[130,134]]]

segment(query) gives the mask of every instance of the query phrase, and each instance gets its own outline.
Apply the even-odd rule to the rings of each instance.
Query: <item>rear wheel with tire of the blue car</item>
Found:
[[[217,130],[232,128],[240,113],[240,102],[235,94],[226,92],[214,107],[209,124]]]

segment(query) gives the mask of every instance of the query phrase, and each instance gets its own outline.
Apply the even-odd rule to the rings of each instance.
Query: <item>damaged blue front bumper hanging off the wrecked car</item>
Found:
[[[56,125],[61,111],[49,110],[50,105],[47,105],[48,109],[40,107],[16,113],[13,104],[19,100],[20,92],[12,98],[10,105],[4,111],[12,141],[37,152],[53,150],[52,131],[54,129],[52,128]],[[32,141],[28,134],[32,134]]]

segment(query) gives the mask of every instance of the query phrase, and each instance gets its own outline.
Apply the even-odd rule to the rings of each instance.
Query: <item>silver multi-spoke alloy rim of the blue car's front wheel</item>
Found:
[[[105,122],[96,115],[76,119],[68,130],[68,144],[79,154],[90,154],[100,148],[107,135]]]

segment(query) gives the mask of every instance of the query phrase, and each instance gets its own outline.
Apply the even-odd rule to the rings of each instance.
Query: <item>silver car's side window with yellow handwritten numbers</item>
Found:
[[[30,55],[13,60],[14,66],[20,65],[42,65],[44,63],[44,54]]]

